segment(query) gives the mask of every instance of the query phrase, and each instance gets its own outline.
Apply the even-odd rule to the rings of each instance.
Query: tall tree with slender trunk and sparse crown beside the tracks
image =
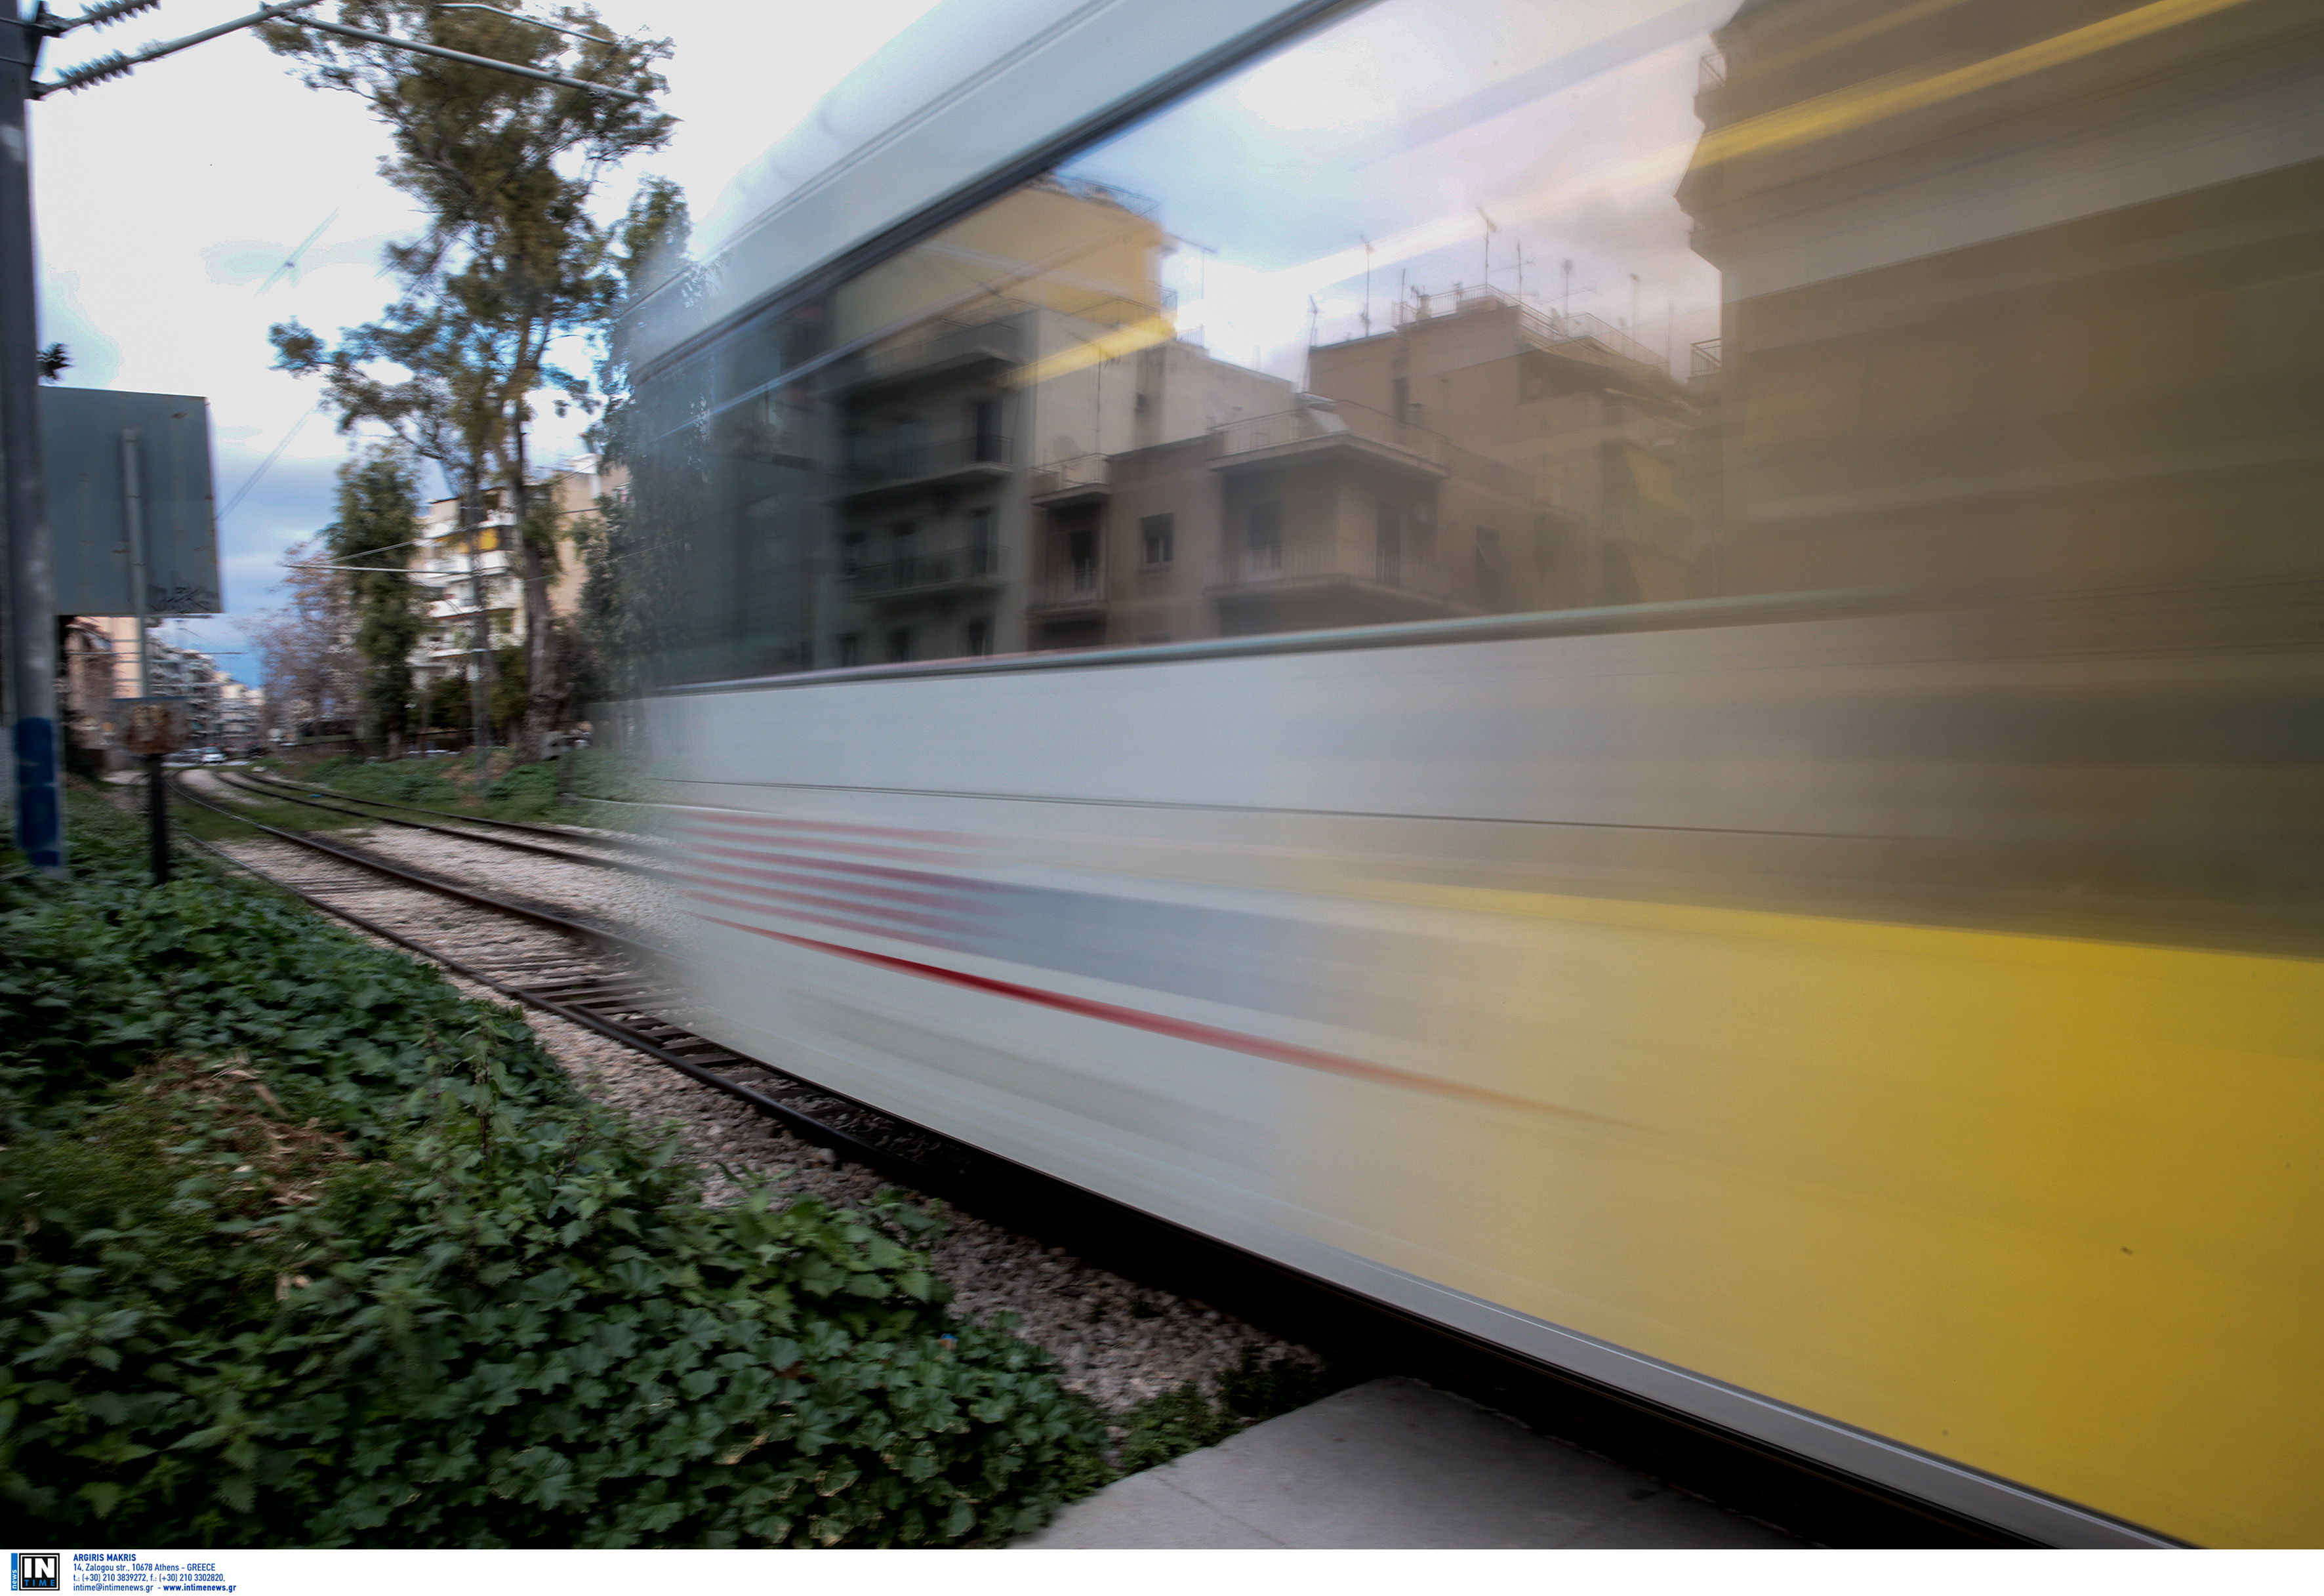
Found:
[[[560,7],[551,26],[428,0],[339,0],[339,19],[472,56],[558,65],[632,93],[660,91],[653,63],[669,58],[667,39],[616,37],[590,7]],[[428,235],[388,251],[409,309],[386,321],[428,321],[432,311],[469,335],[458,346],[472,355],[476,402],[493,425],[465,437],[490,455],[518,527],[530,681],[523,743],[525,757],[539,757],[560,690],[548,625],[555,532],[551,518],[532,513],[528,481],[532,402],[544,390],[562,393],[560,407],[588,402],[586,379],[551,360],[558,339],[597,325],[621,293],[609,269],[618,239],[590,218],[588,202],[611,165],[660,149],[674,121],[646,102],[316,35],[290,19],[263,33],[270,49],[311,63],[309,84],[372,105],[390,135],[383,174],[428,211]],[[344,346],[358,365],[383,353],[363,344]]]

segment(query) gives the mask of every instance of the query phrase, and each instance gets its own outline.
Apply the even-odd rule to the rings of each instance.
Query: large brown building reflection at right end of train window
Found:
[[[2131,14],[1778,0],[1715,35],[1680,202],[1727,281],[1729,590],[2317,574],[2317,12]]]

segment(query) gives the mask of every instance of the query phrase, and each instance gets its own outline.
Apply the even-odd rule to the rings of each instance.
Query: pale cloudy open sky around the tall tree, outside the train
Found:
[[[627,204],[644,172],[683,184],[697,214],[711,209],[741,167],[930,5],[597,0],[616,28],[676,42],[665,109],[681,118],[669,149],[607,181],[607,209]],[[51,44],[40,77],[251,9],[251,0],[165,0]],[[205,395],[221,509],[290,434],[221,518],[228,613],[163,630],[170,641],[221,650],[232,676],[256,681],[258,657],[228,653],[249,648],[239,620],[277,602],[281,551],[330,523],[332,472],[349,448],[314,409],[316,386],[270,369],[267,325],[297,316],[330,337],[388,302],[379,246],[411,235],[416,218],[379,179],[386,142],[358,98],[300,86],[293,63],[246,33],[51,95],[30,109],[30,128],[40,337],[72,348],[65,386]],[[267,286],[318,225],[295,276]],[[572,441],[548,420],[539,455],[553,460]]]

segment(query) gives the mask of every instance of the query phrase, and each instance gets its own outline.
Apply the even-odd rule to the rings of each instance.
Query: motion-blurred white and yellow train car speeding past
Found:
[[[2315,1545],[2319,63],[939,5],[623,335],[700,1029],[2033,1540]]]

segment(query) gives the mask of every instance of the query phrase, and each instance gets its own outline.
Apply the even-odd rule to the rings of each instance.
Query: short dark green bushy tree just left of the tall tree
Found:
[[[404,739],[411,648],[425,620],[421,585],[404,574],[421,534],[418,483],[400,448],[372,448],[339,467],[339,520],[325,534],[346,576],[353,646],[363,660],[363,741]],[[395,569],[388,569],[395,567]]]

